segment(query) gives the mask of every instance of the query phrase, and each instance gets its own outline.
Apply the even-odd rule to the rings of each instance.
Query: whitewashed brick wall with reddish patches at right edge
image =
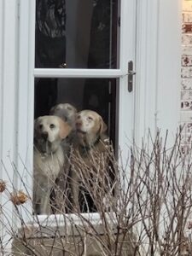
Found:
[[[183,0],[181,58],[181,125],[183,150],[192,143],[192,1]],[[185,145],[185,147],[184,147]]]

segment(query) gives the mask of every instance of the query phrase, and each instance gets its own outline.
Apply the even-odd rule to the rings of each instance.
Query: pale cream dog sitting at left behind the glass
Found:
[[[38,214],[49,214],[50,190],[65,162],[61,141],[71,126],[57,116],[42,116],[34,124],[33,204]]]

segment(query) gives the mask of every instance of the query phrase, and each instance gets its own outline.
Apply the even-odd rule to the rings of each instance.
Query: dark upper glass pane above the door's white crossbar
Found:
[[[37,0],[35,67],[118,68],[118,0]]]

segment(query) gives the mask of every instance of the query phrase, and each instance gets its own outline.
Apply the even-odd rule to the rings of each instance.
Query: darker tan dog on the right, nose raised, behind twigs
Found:
[[[89,170],[89,168],[92,167],[96,168],[96,166],[93,166],[93,162],[98,163],[101,157],[105,159],[103,154],[106,153],[108,146],[108,137],[105,135],[107,128],[102,117],[95,111],[83,110],[77,114],[77,138],[73,144],[71,154],[71,189],[73,207],[77,207],[77,209],[79,208],[79,186],[82,179],[82,177],[79,176],[79,170],[82,166],[84,166],[84,170]],[[100,170],[102,170],[102,168],[100,168]],[[86,173],[84,173],[83,176],[84,175],[86,176]]]

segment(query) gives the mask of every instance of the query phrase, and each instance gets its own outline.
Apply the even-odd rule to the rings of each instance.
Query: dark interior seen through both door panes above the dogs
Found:
[[[117,68],[118,0],[36,0],[36,68]],[[85,71],[84,71],[85,72]],[[92,109],[115,138],[116,79],[35,79],[35,118],[58,103]]]

